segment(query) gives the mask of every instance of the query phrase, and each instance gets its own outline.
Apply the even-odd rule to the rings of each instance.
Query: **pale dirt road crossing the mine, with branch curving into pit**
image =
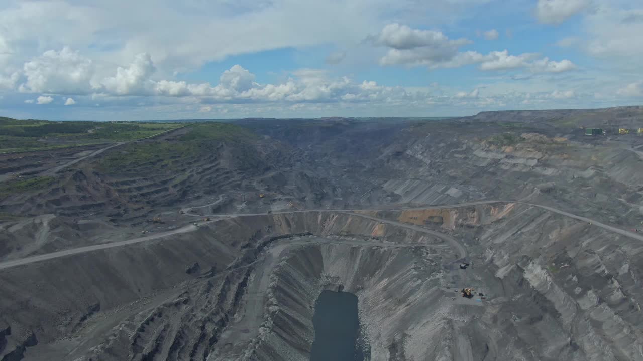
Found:
[[[633,232],[630,232],[630,231],[625,231],[624,229],[620,229],[620,228],[617,228],[617,227],[613,227],[611,225],[603,224],[601,222],[597,222],[596,220],[592,220],[591,218],[586,218],[584,216],[574,215],[573,213],[569,213],[569,212],[566,212],[566,211],[561,211],[560,209],[556,209],[554,207],[542,206],[542,205],[539,205],[539,204],[532,204],[532,203],[528,203],[528,202],[516,202],[516,201],[509,201],[509,200],[480,200],[480,201],[476,201],[476,202],[464,202],[464,203],[460,203],[460,204],[448,204],[448,205],[442,205],[442,206],[408,207],[408,208],[397,208],[397,209],[392,209],[392,208],[363,209],[363,211],[377,211],[377,210],[405,211],[405,210],[415,210],[415,209],[444,209],[444,208],[452,208],[452,207],[476,206],[476,205],[480,205],[480,204],[494,204],[494,203],[518,203],[518,204],[526,204],[526,205],[533,206],[533,207],[539,207],[541,209],[545,209],[547,211],[557,213],[559,215],[574,218],[575,220],[588,222],[588,223],[590,223],[592,225],[595,225],[596,227],[600,227],[602,229],[605,229],[606,231],[622,234],[623,236],[628,236],[630,238],[634,238],[636,240],[643,241],[643,234],[637,234],[637,233],[633,233]],[[413,231],[422,232],[422,233],[426,233],[426,234],[431,234],[433,236],[437,236],[437,237],[442,238],[443,240],[446,240],[447,242],[451,243],[451,246],[454,249],[457,249],[458,256],[460,256],[462,258],[467,256],[466,248],[462,245],[462,243],[458,242],[458,240],[456,240],[452,236],[449,236],[448,234],[440,233],[440,232],[437,232],[437,231],[432,231],[430,229],[419,227],[417,225],[404,224],[404,223],[401,223],[401,222],[396,222],[394,220],[388,220],[388,219],[385,219],[385,218],[378,218],[376,216],[370,216],[370,215],[365,215],[365,214],[362,214],[362,213],[356,213],[356,211],[362,211],[362,209],[306,209],[306,210],[301,210],[301,211],[278,211],[278,212],[272,212],[272,213],[230,213],[230,214],[220,214],[220,215],[209,215],[212,218],[212,220],[207,221],[207,222],[200,222],[199,224],[203,225],[203,224],[208,224],[208,223],[211,223],[211,222],[215,222],[217,220],[221,220],[223,218],[242,217],[242,216],[279,215],[279,214],[285,214],[285,213],[301,213],[301,212],[346,213],[346,214],[349,214],[349,215],[361,216],[363,218],[369,218],[369,219],[372,219],[372,220],[376,220],[377,222],[381,222],[381,223],[385,223],[385,224],[392,224],[392,225],[395,225],[397,227],[403,227],[403,228],[406,228],[406,229],[412,229]],[[15,266],[20,266],[20,265],[28,265],[30,263],[35,263],[35,262],[44,261],[44,260],[51,260],[53,258],[70,256],[72,254],[79,254],[79,253],[84,253],[84,252],[98,251],[98,250],[101,250],[101,249],[109,249],[109,248],[113,248],[113,247],[121,247],[123,245],[131,245],[133,243],[145,242],[145,241],[154,240],[154,239],[157,239],[157,238],[163,238],[163,237],[167,237],[167,236],[172,236],[173,234],[192,232],[192,231],[195,231],[196,229],[197,229],[197,226],[190,224],[190,225],[186,225],[185,227],[174,229],[172,231],[161,232],[161,233],[156,233],[156,234],[150,234],[149,236],[144,236],[144,237],[140,237],[140,238],[133,238],[133,239],[130,239],[130,240],[123,240],[123,241],[111,242],[111,243],[102,243],[100,245],[90,245],[90,246],[85,246],[85,247],[78,247],[78,248],[75,248],[75,249],[68,249],[68,250],[64,250],[64,251],[51,252],[51,253],[48,253],[48,254],[39,254],[37,256],[30,256],[30,257],[26,257],[26,258],[21,258],[19,260],[5,261],[5,262],[0,263],[0,270],[8,269],[10,267],[15,267]]]

